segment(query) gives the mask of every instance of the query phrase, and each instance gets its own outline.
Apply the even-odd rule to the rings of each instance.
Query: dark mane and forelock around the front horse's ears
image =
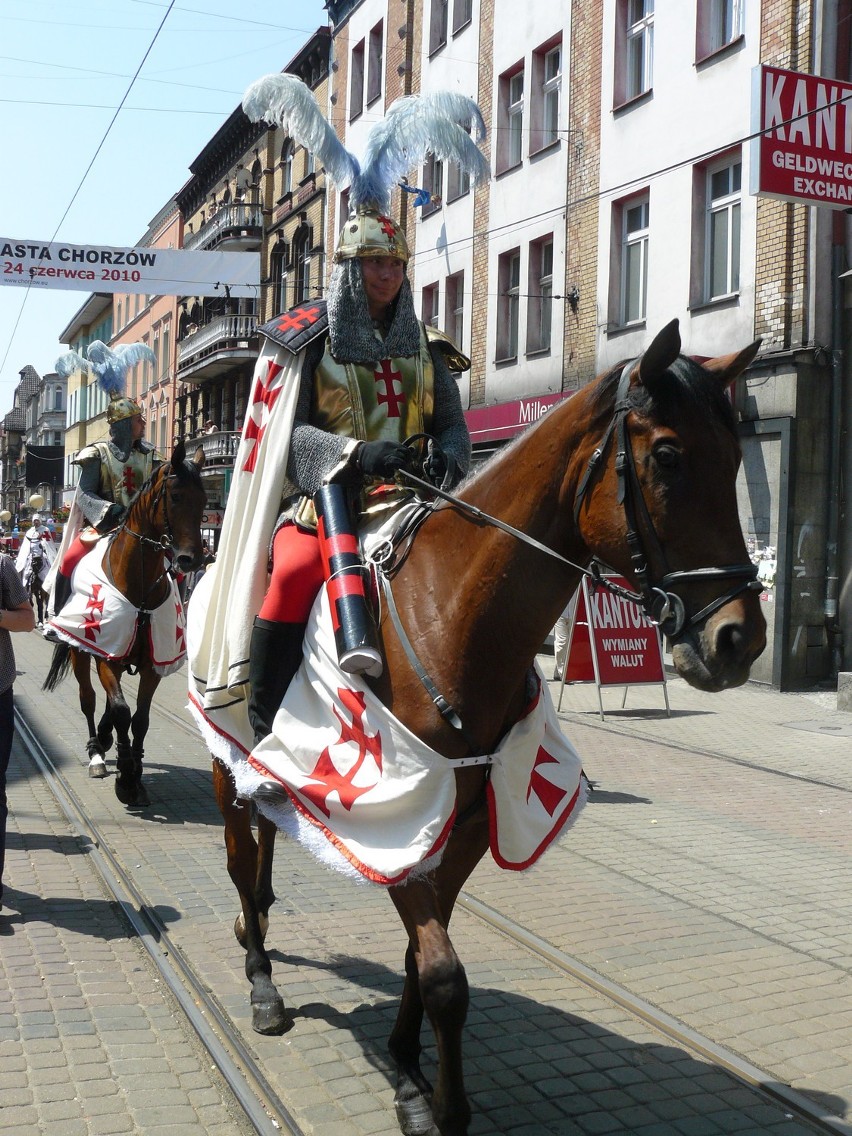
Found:
[[[630,362],[623,359],[594,384],[591,392],[592,408],[596,414],[610,414],[616,404],[616,392],[621,371]],[[637,414],[653,411],[663,420],[676,423],[680,408],[688,404],[699,414],[716,418],[737,437],[736,417],[730,399],[721,383],[715,379],[700,362],[688,356],[678,356],[665,374],[677,379],[659,386],[634,385],[628,402]]]

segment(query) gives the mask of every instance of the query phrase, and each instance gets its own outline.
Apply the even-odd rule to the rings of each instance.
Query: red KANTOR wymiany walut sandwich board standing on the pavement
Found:
[[[624,576],[608,574],[604,578],[630,591]],[[595,683],[601,719],[602,687],[624,686],[626,701],[629,686],[659,685],[666,699],[666,712],[671,717],[660,628],[638,603],[608,591],[588,576],[583,578],[574,607],[559,710],[566,683]]]

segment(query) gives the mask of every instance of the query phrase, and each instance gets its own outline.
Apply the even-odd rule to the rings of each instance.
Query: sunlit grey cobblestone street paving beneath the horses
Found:
[[[33,635],[15,646],[19,710],[304,1130],[396,1134],[385,1044],[403,939],[387,897],[278,842],[269,944],[296,1024],[283,1037],[253,1034],[200,742],[154,716],[151,807],[123,809],[111,778],[86,777],[73,680],[43,694],[49,645]],[[632,691],[624,710],[604,692],[601,721],[593,688],[567,688],[561,717],[595,784],[586,813],[532,872],[486,860],[470,892],[742,1054],[768,1083],[844,1116],[852,745],[842,732],[852,715],[755,686],[705,696],[673,682],[669,699],[671,718],[659,688]],[[184,716],[182,675],[156,704]],[[17,755],[10,800],[0,1133],[239,1133],[209,1059]],[[813,1130],[463,910],[453,941],[471,986],[471,1136]]]

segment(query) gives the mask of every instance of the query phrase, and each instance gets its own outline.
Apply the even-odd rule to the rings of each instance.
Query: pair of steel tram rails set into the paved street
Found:
[[[154,715],[167,721],[170,727],[198,741],[195,730],[185,718],[162,705],[152,708],[152,716]],[[269,1085],[262,1068],[249,1052],[239,1029],[211,995],[206,982],[199,977],[190,961],[169,938],[165,925],[122,868],[119,859],[108,846],[103,834],[86,816],[78,795],[56,768],[36,734],[20,713],[17,716],[17,725],[27,752],[50,786],[69,825],[86,846],[94,867],[145,946],[152,963],[167,983],[200,1042],[222,1071],[249,1122],[260,1136],[275,1131],[303,1136],[304,1129]],[[779,1084],[776,1078],[742,1055],[716,1044],[711,1038],[637,997],[626,987],[603,977],[579,959],[525,928],[517,920],[483,903],[471,893],[462,892],[458,905],[508,938],[518,950],[545,961],[563,978],[595,991],[686,1052],[725,1069],[742,1084],[774,1104],[780,1105],[791,1118],[795,1117],[811,1125],[815,1130],[827,1133],[829,1136],[852,1136],[852,1124],[829,1113],[810,1097]]]

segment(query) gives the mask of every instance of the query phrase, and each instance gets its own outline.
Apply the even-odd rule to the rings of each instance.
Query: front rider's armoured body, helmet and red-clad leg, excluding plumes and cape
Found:
[[[261,358],[299,357],[300,391],[287,479],[295,493],[276,526],[272,577],[251,637],[249,719],[265,737],[302,657],[323,584],[310,499],[334,476],[379,483],[411,460],[415,434],[437,442],[431,474],[448,484],[467,473],[470,438],[451,371],[469,367],[454,345],[416,316],[399,224],[364,207],[344,225],[327,303],[303,303],[261,328]],[[446,465],[444,465],[444,462]]]

